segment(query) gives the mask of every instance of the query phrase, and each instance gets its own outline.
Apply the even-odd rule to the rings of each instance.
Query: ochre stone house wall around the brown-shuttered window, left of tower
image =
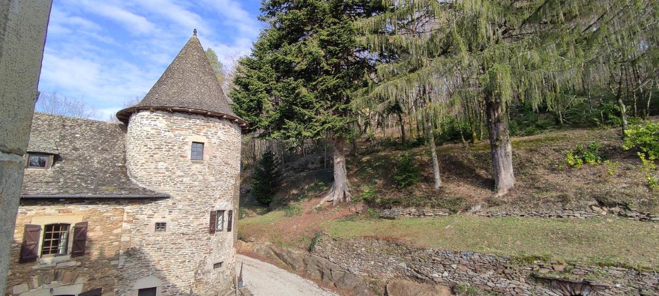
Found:
[[[130,203],[119,199],[98,203],[86,201],[22,200],[16,217],[11,245],[11,265],[5,295],[18,295],[74,287],[89,291],[101,287],[103,295],[114,295],[115,278],[119,274],[119,249],[125,209]],[[69,232],[69,255],[42,257],[36,262],[18,262],[25,224],[88,222],[86,253],[71,257],[72,231]],[[55,290],[57,291],[57,290]]]

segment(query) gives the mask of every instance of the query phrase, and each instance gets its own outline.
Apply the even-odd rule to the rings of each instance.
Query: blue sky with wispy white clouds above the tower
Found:
[[[55,0],[39,89],[84,97],[105,120],[143,97],[196,28],[222,62],[249,53],[260,0]]]

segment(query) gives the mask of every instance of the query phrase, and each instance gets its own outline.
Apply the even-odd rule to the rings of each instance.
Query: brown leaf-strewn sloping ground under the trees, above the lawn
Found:
[[[610,164],[584,164],[581,168],[565,164],[567,151],[575,149],[575,145],[592,142],[602,146],[602,160],[609,160]],[[558,130],[514,137],[516,184],[505,197],[494,197],[487,142],[469,147],[460,143],[438,147],[443,181],[439,191],[432,187],[430,153],[426,147],[399,150],[361,143],[358,154],[347,160],[347,168],[353,199],[366,197],[366,205],[374,208],[441,208],[447,200],[459,199],[459,210],[474,205],[526,209],[585,207],[596,201],[659,212],[659,191],[650,191],[639,169],[641,161],[636,151],[624,151],[622,144],[617,129]],[[414,155],[423,179],[418,184],[399,188],[393,181],[393,172],[397,169],[398,157],[405,153]],[[331,185],[331,167],[325,170],[287,168],[284,178],[285,184],[275,198],[274,207],[322,196]]]

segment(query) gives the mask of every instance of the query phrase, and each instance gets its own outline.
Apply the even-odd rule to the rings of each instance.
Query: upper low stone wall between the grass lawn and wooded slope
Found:
[[[430,208],[397,208],[382,210],[380,218],[393,219],[396,217],[434,217],[448,216],[450,213],[442,209]],[[476,216],[484,217],[535,217],[535,218],[577,218],[587,219],[607,215],[621,216],[639,221],[659,222],[659,214],[650,214],[638,210],[627,209],[626,207],[598,207],[592,205],[585,209],[505,209],[505,210],[483,210],[474,212]]]

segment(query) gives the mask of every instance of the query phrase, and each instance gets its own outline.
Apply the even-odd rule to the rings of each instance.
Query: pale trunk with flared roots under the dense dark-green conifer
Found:
[[[328,194],[323,201],[331,201],[332,205],[338,203],[350,203],[350,192],[348,184],[348,174],[345,169],[345,153],[343,152],[343,145],[345,139],[341,135],[334,136],[333,143],[334,152],[334,183],[329,188]]]

